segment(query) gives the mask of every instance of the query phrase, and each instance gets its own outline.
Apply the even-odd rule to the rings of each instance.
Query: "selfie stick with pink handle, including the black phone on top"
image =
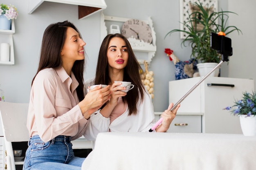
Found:
[[[212,34],[211,34],[211,38],[212,38]],[[225,61],[229,61],[229,56],[232,55],[232,47],[231,47],[231,39],[230,39],[230,44],[228,44],[228,46],[226,48],[231,49],[231,51],[229,50],[229,53],[227,53],[225,51],[225,38],[223,34],[218,34],[219,37],[219,47],[218,49],[215,49],[218,51],[218,53],[221,53],[221,57],[222,60],[219,62],[219,64],[214,67],[207,75],[205,75],[197,84],[195,84],[195,86],[193,86],[175,105],[173,105],[173,107],[170,109],[170,111],[173,111],[178,104],[180,104],[200,83],[202,83],[204,81],[204,79],[206,79],[213,71],[216,70],[216,68],[218,68],[218,66],[220,66],[223,62]],[[213,42],[215,43],[215,42]],[[211,44],[212,44],[212,39],[211,39]],[[163,118],[161,117],[153,126],[152,128],[150,128],[150,130],[148,130],[148,132],[153,132],[153,130],[155,130],[157,128],[157,126],[159,126],[159,124],[161,124],[163,121]]]

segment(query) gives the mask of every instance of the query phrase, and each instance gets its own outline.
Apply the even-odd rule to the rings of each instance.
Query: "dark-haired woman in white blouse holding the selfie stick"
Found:
[[[85,88],[94,84],[110,85],[111,98],[101,109],[91,115],[87,129],[94,136],[85,138],[95,140],[99,132],[148,132],[155,123],[151,97],[141,81],[142,70],[130,43],[121,34],[109,34],[105,37],[99,51],[95,78],[85,81]],[[131,82],[130,91],[115,81]],[[86,91],[85,91],[86,93]],[[175,118],[178,105],[170,111],[173,103],[163,112],[162,124],[156,132],[166,132]],[[87,133],[88,134],[88,133]]]

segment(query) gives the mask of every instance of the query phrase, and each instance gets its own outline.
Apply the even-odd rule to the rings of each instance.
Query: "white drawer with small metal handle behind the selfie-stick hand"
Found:
[[[156,120],[159,118],[160,115],[155,115]],[[201,115],[176,115],[167,132],[201,133],[201,119]]]

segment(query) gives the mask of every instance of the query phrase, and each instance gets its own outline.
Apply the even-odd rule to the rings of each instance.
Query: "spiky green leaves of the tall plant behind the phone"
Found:
[[[189,19],[182,23],[184,30],[173,29],[166,36],[175,32],[185,33],[186,37],[181,45],[186,46],[185,42],[189,42],[192,48],[190,57],[196,59],[199,63],[216,63],[216,66],[221,60],[221,55],[216,50],[211,49],[210,33],[218,33],[220,31],[226,35],[233,31],[238,31],[238,34],[239,32],[242,33],[236,26],[227,26],[228,13],[234,12],[215,12],[213,7],[204,7],[201,2],[191,2],[190,6],[194,10],[189,14]],[[220,21],[220,24],[217,21]]]

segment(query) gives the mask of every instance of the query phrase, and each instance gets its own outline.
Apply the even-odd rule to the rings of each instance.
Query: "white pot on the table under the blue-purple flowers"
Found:
[[[256,116],[240,115],[240,125],[245,136],[256,136]]]

